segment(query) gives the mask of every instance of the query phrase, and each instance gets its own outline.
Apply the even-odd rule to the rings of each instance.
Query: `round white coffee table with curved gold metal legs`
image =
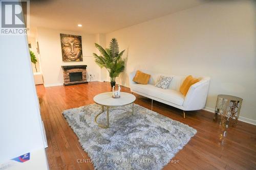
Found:
[[[126,92],[120,92],[120,93],[121,93],[121,97],[118,99],[112,98],[112,92],[104,92],[94,96],[93,98],[94,102],[102,106],[102,112],[97,114],[94,118],[95,123],[99,127],[109,128],[109,108],[110,107],[125,106],[125,105],[132,104],[133,110],[134,110],[134,101],[136,100],[135,95],[126,93]],[[97,123],[97,117],[100,114],[104,113],[104,106],[106,107],[106,126],[103,126]]]

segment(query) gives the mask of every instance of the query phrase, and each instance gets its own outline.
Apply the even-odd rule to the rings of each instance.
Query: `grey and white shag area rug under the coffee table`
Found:
[[[94,122],[102,111],[97,104],[63,111],[96,169],[162,169],[197,133],[140,105],[134,105],[134,115],[130,105],[112,109],[109,129]],[[98,123],[106,123],[106,111]]]

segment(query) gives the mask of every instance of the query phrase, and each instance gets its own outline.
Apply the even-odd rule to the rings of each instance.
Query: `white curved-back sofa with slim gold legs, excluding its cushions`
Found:
[[[185,80],[186,76],[168,75],[168,74],[153,74],[147,70],[141,70],[146,74],[150,74],[151,78],[148,84],[137,84],[133,81],[136,71],[131,72],[129,75],[131,91],[146,98],[179,108],[183,110],[183,116],[185,118],[185,111],[200,110],[205,106],[210,78],[199,77],[199,82],[190,86],[186,96],[180,92],[180,86]],[[168,89],[162,89],[155,87],[155,84],[159,76],[173,77]]]

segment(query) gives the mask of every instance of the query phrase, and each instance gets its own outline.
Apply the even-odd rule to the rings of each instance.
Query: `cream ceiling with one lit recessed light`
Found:
[[[109,33],[203,4],[204,0],[30,1],[30,28]],[[82,27],[77,27],[81,24]]]

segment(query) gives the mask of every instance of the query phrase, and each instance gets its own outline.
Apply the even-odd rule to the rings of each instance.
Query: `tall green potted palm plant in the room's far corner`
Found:
[[[112,38],[109,48],[103,48],[99,44],[95,43],[95,47],[99,50],[101,55],[93,53],[95,62],[100,68],[105,67],[110,74],[111,87],[115,86],[116,78],[124,70],[124,60],[121,58],[124,51],[119,53],[118,42],[116,38]]]

